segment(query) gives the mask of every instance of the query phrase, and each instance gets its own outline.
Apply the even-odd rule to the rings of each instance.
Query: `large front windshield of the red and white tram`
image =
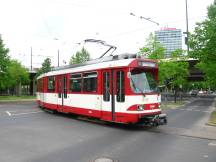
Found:
[[[130,86],[134,93],[158,92],[154,73],[142,69],[134,69],[131,71]]]

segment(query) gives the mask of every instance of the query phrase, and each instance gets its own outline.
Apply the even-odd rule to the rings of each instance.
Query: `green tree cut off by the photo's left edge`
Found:
[[[8,56],[9,49],[5,48],[3,40],[0,36],[0,89],[5,89],[8,86],[8,65],[10,57]]]

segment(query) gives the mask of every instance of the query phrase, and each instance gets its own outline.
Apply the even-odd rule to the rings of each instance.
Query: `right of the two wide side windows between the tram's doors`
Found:
[[[97,72],[83,74],[83,92],[97,92]]]

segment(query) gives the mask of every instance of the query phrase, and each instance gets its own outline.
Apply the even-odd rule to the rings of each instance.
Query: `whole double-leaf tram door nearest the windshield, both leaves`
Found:
[[[115,121],[116,112],[125,108],[125,71],[106,70],[102,75],[102,119]]]

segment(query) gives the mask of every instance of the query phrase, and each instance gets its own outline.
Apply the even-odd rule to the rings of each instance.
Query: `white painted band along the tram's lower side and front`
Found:
[[[98,110],[98,111],[110,111],[108,109],[109,103],[104,104],[104,107],[102,107],[102,102],[103,102],[102,97],[103,97],[102,95],[69,94],[68,98],[64,102],[64,105],[68,107],[79,107],[83,109],[92,109],[92,110]],[[57,104],[57,99],[58,99],[57,94],[37,93],[37,100],[40,100],[43,103]],[[156,94],[146,95],[145,97],[143,96],[125,96],[124,103],[116,104],[116,107],[118,107],[116,112],[132,113],[132,114],[160,112],[161,111],[160,109],[144,110],[142,112],[141,111],[127,111],[127,108],[132,105],[144,105],[144,104],[152,104],[152,103],[160,103],[160,96]]]

